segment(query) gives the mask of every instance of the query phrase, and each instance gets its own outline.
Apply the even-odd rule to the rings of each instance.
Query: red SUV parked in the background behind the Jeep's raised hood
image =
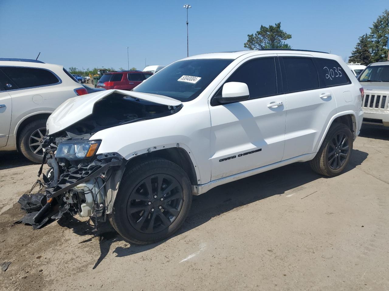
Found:
[[[131,90],[146,80],[152,73],[142,71],[117,71],[105,73],[97,82],[97,88]]]

